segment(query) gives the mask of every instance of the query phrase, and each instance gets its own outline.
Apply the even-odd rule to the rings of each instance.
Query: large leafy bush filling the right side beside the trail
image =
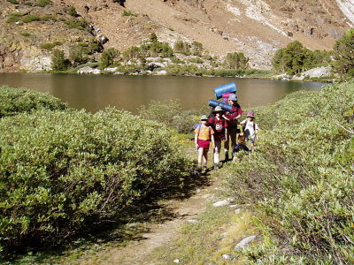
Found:
[[[280,243],[250,256],[352,264],[354,82],[297,92],[257,109],[256,117],[263,129],[257,152],[230,166],[226,186],[266,216]]]

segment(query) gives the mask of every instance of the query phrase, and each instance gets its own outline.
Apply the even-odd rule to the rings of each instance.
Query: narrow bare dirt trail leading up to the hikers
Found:
[[[100,255],[99,261],[85,261],[81,264],[153,264],[150,254],[159,246],[172,243],[178,236],[178,228],[182,223],[196,218],[206,209],[207,201],[215,196],[219,186],[219,178],[209,172],[208,186],[196,189],[196,193],[184,200],[165,201],[164,205],[173,209],[174,217],[164,223],[149,223],[147,233],[141,239],[133,240],[127,246],[111,249]],[[212,178],[212,179],[210,179]]]

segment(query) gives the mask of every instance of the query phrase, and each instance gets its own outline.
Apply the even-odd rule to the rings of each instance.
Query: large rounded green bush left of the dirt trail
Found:
[[[164,125],[125,111],[41,110],[0,121],[2,254],[119,222],[190,170]]]

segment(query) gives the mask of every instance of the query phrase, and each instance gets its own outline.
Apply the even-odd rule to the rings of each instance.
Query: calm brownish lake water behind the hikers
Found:
[[[91,112],[111,106],[137,113],[151,100],[181,100],[184,110],[198,109],[215,99],[214,87],[235,82],[242,108],[269,105],[297,90],[319,90],[324,83],[267,79],[0,73],[0,86],[46,92],[76,109]]]

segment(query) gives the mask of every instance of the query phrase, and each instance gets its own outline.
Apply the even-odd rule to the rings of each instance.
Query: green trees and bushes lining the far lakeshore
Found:
[[[83,47],[78,45],[69,50],[69,56],[65,57],[63,50],[54,49],[51,57],[51,67],[54,71],[65,71],[70,67],[76,67],[89,62],[87,57],[89,51],[100,51],[98,48]],[[91,52],[92,52],[91,51]],[[200,42],[184,42],[179,40],[173,44],[159,42],[156,34],[150,34],[150,38],[142,42],[140,46],[132,46],[120,52],[118,49],[105,49],[98,63],[101,69],[114,66],[122,66],[123,62],[130,61],[129,67],[132,71],[148,70],[146,65],[147,57],[170,58],[173,64],[185,64],[176,53],[186,56],[194,56],[191,63],[203,64],[204,60],[209,60],[214,68],[225,70],[247,70],[250,69],[249,57],[242,52],[227,53],[223,61],[217,57],[208,55]],[[133,66],[132,66],[133,65]],[[341,39],[335,42],[332,50],[311,50],[304,47],[299,42],[290,42],[285,48],[278,49],[272,59],[273,70],[275,72],[287,72],[289,75],[300,74],[309,69],[322,65],[332,66],[333,72],[341,78],[354,77],[354,28],[350,29]],[[127,66],[127,65],[126,65]]]

